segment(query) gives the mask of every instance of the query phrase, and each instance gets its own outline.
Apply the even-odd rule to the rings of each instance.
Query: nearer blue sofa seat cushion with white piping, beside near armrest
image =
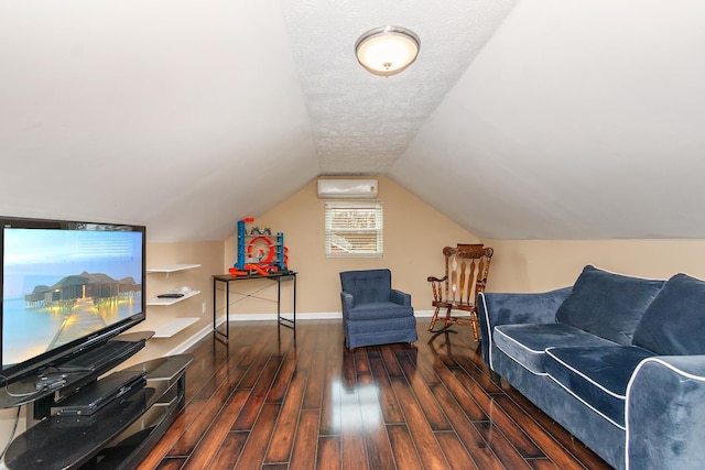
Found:
[[[551,348],[544,365],[558,385],[625,429],[627,384],[637,365],[652,356],[646,349],[621,345]]]

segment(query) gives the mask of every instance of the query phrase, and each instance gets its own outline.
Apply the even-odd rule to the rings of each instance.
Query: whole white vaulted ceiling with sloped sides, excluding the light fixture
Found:
[[[224,239],[319,175],[482,238],[705,238],[705,2],[6,0],[0,212]],[[352,46],[421,37],[384,78]]]

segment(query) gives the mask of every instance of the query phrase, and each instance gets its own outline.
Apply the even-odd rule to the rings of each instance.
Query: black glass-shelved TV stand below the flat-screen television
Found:
[[[150,336],[151,332],[144,332],[115,338],[133,343],[133,349],[126,348],[129,352],[118,354],[118,358],[102,354],[101,347],[88,351],[86,354],[93,359],[82,358],[80,361],[93,362],[89,367],[78,368],[74,362],[63,369],[61,363],[53,364],[40,375],[11,383],[14,396],[0,390],[0,406],[29,404],[28,429],[8,447],[2,468],[137,467],[183,408],[185,371],[193,361],[191,354],[177,354],[123,369],[118,373],[142,379],[139,383],[130,382],[129,386],[116,381],[115,373],[105,375],[142,349]],[[96,358],[100,359],[94,360]],[[44,390],[34,383],[42,378],[62,384]],[[110,386],[106,385],[111,380],[119,390],[108,391]],[[28,390],[29,395],[21,396],[20,390]],[[97,408],[74,406],[72,413],[61,413],[67,404],[86,404],[95,398],[96,391],[107,391],[111,395]],[[86,412],[76,413],[76,409]]]

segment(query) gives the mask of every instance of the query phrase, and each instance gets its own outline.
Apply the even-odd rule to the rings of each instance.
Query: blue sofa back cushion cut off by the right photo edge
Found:
[[[705,354],[705,282],[671,277],[634,332],[633,343],[658,354]]]

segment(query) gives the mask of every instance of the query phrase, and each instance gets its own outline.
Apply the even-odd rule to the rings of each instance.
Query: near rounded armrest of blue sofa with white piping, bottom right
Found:
[[[705,356],[644,359],[627,386],[626,406],[626,468],[702,468]]]

